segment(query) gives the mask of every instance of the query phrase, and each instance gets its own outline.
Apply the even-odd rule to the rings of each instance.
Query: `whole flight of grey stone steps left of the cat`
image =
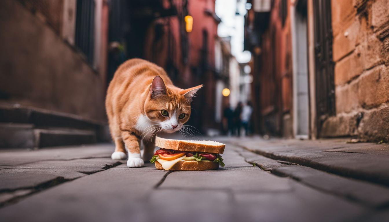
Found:
[[[0,148],[40,148],[109,142],[102,122],[31,107],[0,107]]]

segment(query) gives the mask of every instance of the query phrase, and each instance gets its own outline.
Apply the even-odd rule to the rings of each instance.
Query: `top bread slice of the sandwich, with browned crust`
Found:
[[[160,148],[223,154],[226,144],[209,140],[172,140],[156,136],[155,145]]]

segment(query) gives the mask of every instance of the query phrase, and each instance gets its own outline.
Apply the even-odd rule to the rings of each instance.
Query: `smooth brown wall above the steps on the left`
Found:
[[[0,102],[105,121],[104,78],[47,21],[5,0],[0,33]]]

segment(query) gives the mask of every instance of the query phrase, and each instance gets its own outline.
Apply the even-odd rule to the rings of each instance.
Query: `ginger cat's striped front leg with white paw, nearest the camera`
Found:
[[[128,167],[142,167],[143,159],[140,157],[140,139],[129,131],[122,131],[122,138],[128,150]]]

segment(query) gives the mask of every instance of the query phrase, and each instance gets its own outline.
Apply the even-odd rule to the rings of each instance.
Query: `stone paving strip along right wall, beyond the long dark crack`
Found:
[[[263,140],[258,137],[224,139],[224,142],[244,147],[272,159],[297,163],[341,176],[389,186],[389,161],[387,161],[389,145],[345,143],[345,141],[344,139]],[[328,152],[331,149],[363,149],[365,152],[369,149],[369,152]]]

